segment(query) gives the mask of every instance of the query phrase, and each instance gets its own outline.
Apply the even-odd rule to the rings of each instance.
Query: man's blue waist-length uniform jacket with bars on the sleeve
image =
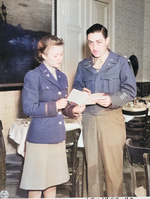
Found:
[[[135,77],[124,57],[110,51],[99,72],[93,64],[92,56],[79,62],[73,88],[83,90],[86,87],[92,93],[109,94],[112,102],[110,109],[119,108],[135,98]],[[104,107],[96,104],[87,106],[85,111],[97,115],[102,110]]]

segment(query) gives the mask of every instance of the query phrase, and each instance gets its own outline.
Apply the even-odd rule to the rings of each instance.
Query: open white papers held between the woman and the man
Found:
[[[72,89],[69,94],[67,100],[70,102],[74,102],[78,105],[81,104],[95,104],[95,99],[100,99],[103,93],[93,93],[92,95],[88,95],[86,92],[79,91],[77,89]]]

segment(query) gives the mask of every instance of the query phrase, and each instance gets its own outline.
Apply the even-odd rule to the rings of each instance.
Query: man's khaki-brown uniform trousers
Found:
[[[102,115],[84,112],[83,142],[87,160],[88,197],[123,195],[123,148],[126,140],[122,109]]]

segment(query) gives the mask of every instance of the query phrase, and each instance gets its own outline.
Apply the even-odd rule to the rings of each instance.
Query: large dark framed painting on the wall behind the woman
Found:
[[[56,35],[56,0],[0,0],[0,91],[20,90],[39,63],[38,41]]]

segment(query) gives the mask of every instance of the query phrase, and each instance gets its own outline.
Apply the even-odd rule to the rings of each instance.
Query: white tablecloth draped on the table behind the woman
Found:
[[[9,137],[18,144],[17,152],[23,157],[25,153],[25,142],[30,122],[31,122],[30,119],[18,118],[11,125],[9,130]],[[81,129],[81,134],[78,141],[78,147],[84,147],[82,139],[82,125],[78,122],[76,123],[73,122],[73,123],[65,123],[65,127],[66,131],[73,130],[76,128]]]

